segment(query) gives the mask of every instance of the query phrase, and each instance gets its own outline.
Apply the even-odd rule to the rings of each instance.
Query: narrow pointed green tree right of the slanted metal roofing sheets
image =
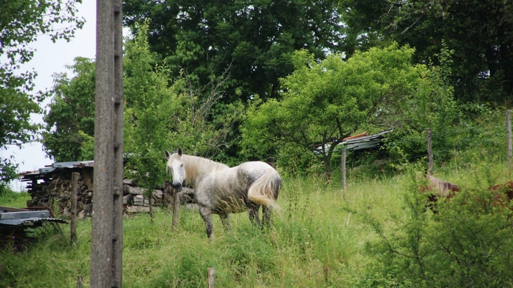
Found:
[[[457,134],[462,110],[453,100],[453,87],[448,84],[450,63],[454,51],[444,47],[437,55],[441,66],[431,66],[424,78],[424,93],[408,100],[400,125],[387,138],[387,150],[392,161],[401,157],[426,155],[427,129],[431,129],[432,147],[439,162],[443,162],[455,147],[467,146]]]

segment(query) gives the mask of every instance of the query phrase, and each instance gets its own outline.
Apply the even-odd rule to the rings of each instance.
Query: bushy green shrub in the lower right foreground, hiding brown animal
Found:
[[[416,173],[419,165],[408,169],[403,211],[384,219],[366,215],[379,235],[367,249],[375,261],[368,273],[375,275],[368,287],[394,283],[396,287],[509,287],[512,285],[513,222],[509,204],[495,202],[488,190],[502,171],[488,177],[489,164],[469,171],[460,179],[462,192],[436,205],[437,214],[424,211],[426,194],[419,185],[426,179]]]

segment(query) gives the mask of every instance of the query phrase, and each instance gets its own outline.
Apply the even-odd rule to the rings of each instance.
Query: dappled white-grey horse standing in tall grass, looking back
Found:
[[[173,178],[173,188],[182,189],[183,183],[194,188],[194,197],[212,239],[212,214],[219,214],[225,229],[230,228],[228,214],[248,211],[249,221],[261,227],[267,225],[271,208],[278,207],[276,199],[281,186],[278,172],[265,162],[245,162],[230,168],[212,160],[183,155],[181,148],[173,154],[166,150],[167,171]]]

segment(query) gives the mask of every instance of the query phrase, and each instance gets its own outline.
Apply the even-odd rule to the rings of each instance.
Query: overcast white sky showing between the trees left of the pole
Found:
[[[57,41],[55,44],[50,37],[41,35],[37,41],[30,44],[36,50],[34,58],[22,68],[23,70],[37,71],[34,91],[45,91],[53,86],[54,73],[69,72],[65,65],[72,65],[75,57],[95,58],[96,55],[96,1],[83,0],[77,6],[78,16],[86,19],[82,30],[75,32],[75,37],[70,41]],[[47,105],[49,100],[44,103]],[[42,123],[42,115],[33,114],[32,122]],[[14,155],[15,163],[20,164],[19,171],[33,171],[52,164],[53,161],[45,157],[41,143],[30,143],[23,145],[21,149],[9,147],[8,150],[0,151],[2,157]],[[11,187],[14,190],[24,190],[25,183],[13,181]]]

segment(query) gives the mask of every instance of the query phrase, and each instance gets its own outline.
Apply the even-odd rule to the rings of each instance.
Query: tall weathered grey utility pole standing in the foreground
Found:
[[[96,1],[91,287],[122,287],[122,1]]]

